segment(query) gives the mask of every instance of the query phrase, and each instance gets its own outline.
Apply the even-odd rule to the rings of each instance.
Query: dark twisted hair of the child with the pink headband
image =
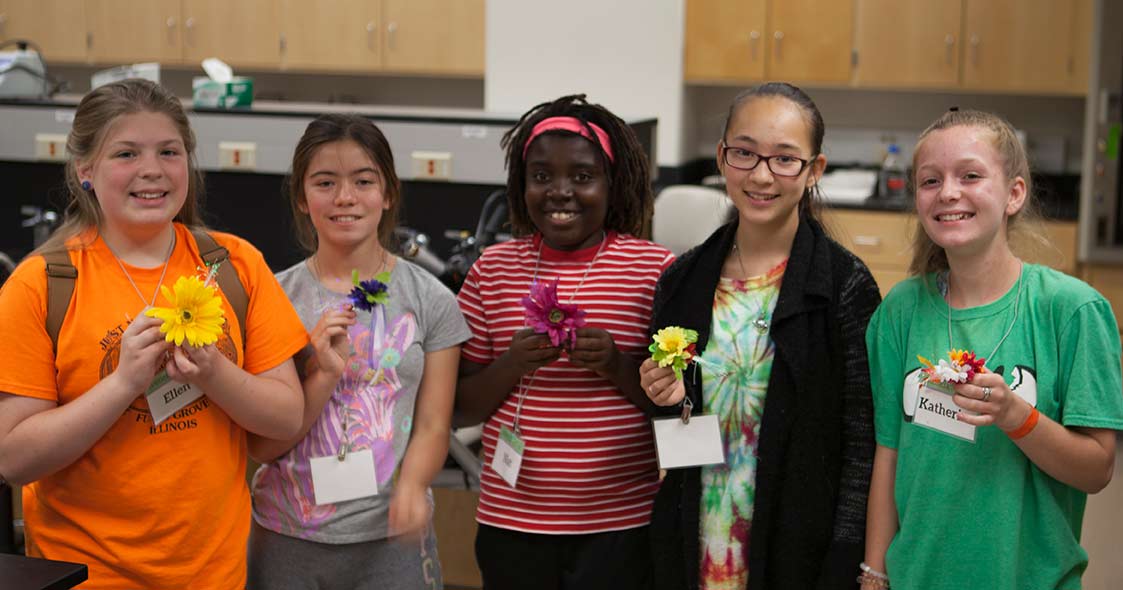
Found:
[[[585,94],[569,94],[536,105],[514,124],[514,127],[503,134],[500,145],[506,151],[506,201],[511,211],[512,233],[524,236],[536,230],[523,198],[527,190],[523,146],[527,145],[527,138],[530,137],[535,126],[550,117],[573,117],[585,125],[588,134],[594,137],[595,134],[588,125],[595,124],[609,135],[615,161],[602,158],[609,173],[609,207],[604,228],[622,234],[640,235],[643,224],[651,217],[655,201],[647,154],[627,122],[609,109],[586,101]],[[546,133],[576,135],[565,130]]]

